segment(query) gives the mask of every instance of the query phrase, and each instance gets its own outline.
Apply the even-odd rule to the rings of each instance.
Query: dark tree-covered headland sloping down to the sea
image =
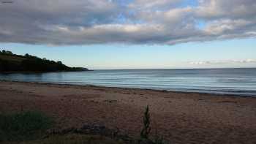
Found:
[[[11,51],[0,50],[0,72],[59,72],[84,71],[86,68],[67,67],[61,61],[50,61],[26,54],[15,55]]]

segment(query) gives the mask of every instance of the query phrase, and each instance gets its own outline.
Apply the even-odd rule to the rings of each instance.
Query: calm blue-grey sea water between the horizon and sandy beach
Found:
[[[1,75],[0,80],[256,96],[256,69],[132,69]]]

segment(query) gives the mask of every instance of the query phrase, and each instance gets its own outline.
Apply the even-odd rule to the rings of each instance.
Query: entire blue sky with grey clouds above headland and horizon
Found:
[[[255,0],[12,1],[0,50],[89,69],[256,67]]]

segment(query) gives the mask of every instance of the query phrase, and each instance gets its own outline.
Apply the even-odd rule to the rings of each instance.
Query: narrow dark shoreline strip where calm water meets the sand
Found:
[[[116,86],[97,86],[91,84],[70,84],[70,83],[48,83],[48,82],[29,82],[29,81],[18,81],[18,80],[0,80],[1,82],[14,82],[14,83],[35,83],[35,84],[46,84],[46,85],[61,85],[61,86],[80,86],[80,87],[95,87],[95,88],[119,88],[119,89],[131,89],[131,90],[142,90],[142,91],[159,91],[159,92],[170,92],[170,93],[181,93],[181,94],[203,94],[208,96],[233,96],[233,97],[252,97],[256,98],[256,95],[247,95],[247,94],[218,94],[214,92],[197,92],[195,91],[175,91],[175,90],[161,90],[161,89],[153,89],[153,88],[129,88],[129,87],[116,87]],[[232,91],[230,91],[232,92]]]

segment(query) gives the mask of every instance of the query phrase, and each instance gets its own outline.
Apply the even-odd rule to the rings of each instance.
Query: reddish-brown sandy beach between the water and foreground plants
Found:
[[[152,132],[173,143],[256,143],[256,97],[0,82],[0,113],[42,110],[56,129],[103,124],[136,136],[146,105]]]

